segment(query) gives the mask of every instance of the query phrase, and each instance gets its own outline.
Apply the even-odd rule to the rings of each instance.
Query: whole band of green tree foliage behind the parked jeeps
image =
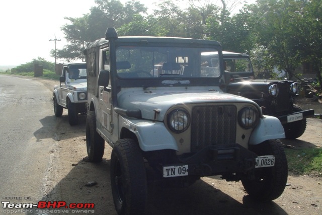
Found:
[[[259,0],[235,14],[230,12],[236,2],[229,6],[226,1],[215,5],[211,1],[160,0],[150,15],[135,0],[95,3],[89,14],[65,18],[69,24],[61,29],[69,44],[56,52],[58,58],[84,61],[85,47],[104,37],[107,27],[115,27],[120,36],[217,40],[223,50],[248,53],[265,77],[273,77],[277,69],[291,79],[301,63],[309,62],[322,82],[320,0]]]

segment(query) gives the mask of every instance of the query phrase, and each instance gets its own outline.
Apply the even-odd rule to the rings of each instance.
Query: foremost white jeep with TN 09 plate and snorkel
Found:
[[[218,52],[212,66],[202,56]],[[189,186],[221,175],[259,201],[278,198],[287,160],[280,121],[254,101],[224,93],[221,46],[171,37],[119,37],[108,28],[87,56],[86,145],[100,162],[113,148],[111,188],[118,214],[143,214],[147,182]],[[229,77],[228,77],[229,80]],[[168,183],[165,183],[168,184]]]

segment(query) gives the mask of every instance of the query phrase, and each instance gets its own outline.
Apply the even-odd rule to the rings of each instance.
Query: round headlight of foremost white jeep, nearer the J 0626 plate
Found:
[[[255,127],[258,120],[258,111],[253,107],[245,107],[238,112],[238,123],[245,129]]]

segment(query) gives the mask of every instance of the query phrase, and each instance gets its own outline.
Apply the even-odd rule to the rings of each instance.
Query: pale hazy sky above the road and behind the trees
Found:
[[[129,0],[121,0],[124,4]],[[139,0],[148,8],[153,0]],[[60,28],[69,24],[64,17],[83,17],[96,6],[95,0],[2,0],[0,3],[0,66],[17,66],[38,57],[50,62],[50,50],[67,42]],[[104,37],[104,35],[102,35]],[[63,63],[57,59],[57,63]]]

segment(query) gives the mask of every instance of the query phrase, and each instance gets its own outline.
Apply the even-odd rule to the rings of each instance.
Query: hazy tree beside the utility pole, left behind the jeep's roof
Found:
[[[90,14],[83,17],[65,17],[70,24],[62,26],[68,42],[61,50],[56,51],[57,58],[85,60],[83,50],[92,41],[104,37],[108,27],[121,27],[128,24],[139,13],[146,13],[144,5],[132,0],[123,5],[118,0],[96,0],[97,6],[91,8]],[[51,56],[54,56],[51,50]]]

